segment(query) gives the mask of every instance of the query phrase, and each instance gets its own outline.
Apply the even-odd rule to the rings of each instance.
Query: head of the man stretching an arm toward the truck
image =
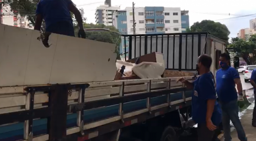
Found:
[[[197,71],[210,71],[212,59],[211,56],[203,54],[197,59]]]

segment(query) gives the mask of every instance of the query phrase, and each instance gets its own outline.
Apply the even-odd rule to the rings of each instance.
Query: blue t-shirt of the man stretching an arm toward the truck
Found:
[[[192,96],[192,118],[196,123],[206,123],[207,101],[216,100],[216,92],[212,74],[205,73],[199,76],[194,82],[194,94]],[[220,106],[215,102],[214,112],[211,121],[218,126],[221,123]]]

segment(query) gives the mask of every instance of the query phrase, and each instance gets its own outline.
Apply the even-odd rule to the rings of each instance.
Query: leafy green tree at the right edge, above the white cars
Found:
[[[239,57],[242,57],[247,65],[254,65],[256,61],[256,35],[251,35],[248,41],[241,38],[232,38],[231,44],[228,46],[232,48]]]

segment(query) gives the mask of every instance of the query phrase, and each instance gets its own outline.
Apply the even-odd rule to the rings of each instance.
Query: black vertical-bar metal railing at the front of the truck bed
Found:
[[[206,46],[208,34],[188,32],[122,35],[123,56],[126,60],[152,52],[163,53],[166,69],[195,71],[197,57]]]

